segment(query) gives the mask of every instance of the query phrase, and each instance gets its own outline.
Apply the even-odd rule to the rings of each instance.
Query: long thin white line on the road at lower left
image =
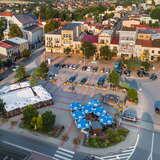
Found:
[[[26,151],[31,152],[31,153],[34,152],[34,153],[37,153],[37,154],[39,154],[39,155],[42,155],[42,156],[45,156],[45,157],[48,157],[48,158],[53,158],[52,156],[49,156],[49,155],[47,155],[47,154],[44,154],[44,153],[41,153],[41,152],[38,152],[38,151],[35,151],[35,150],[31,150],[31,149],[29,149],[29,148],[26,148],[26,147],[23,147],[23,146],[20,146],[20,145],[16,145],[16,144],[10,143],[10,142],[8,142],[8,141],[2,141],[2,142],[5,143],[5,144],[8,144],[8,145],[10,145],[10,146],[13,146],[13,147],[17,147],[17,148],[26,150]]]

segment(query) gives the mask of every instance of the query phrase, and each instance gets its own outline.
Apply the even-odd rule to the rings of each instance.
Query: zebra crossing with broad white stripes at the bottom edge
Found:
[[[59,147],[55,155],[53,156],[53,160],[72,160],[74,157],[74,153],[75,152],[73,151]]]

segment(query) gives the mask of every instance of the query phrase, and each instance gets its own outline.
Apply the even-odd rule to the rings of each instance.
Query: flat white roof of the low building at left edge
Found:
[[[30,104],[52,100],[50,93],[41,85],[31,87],[28,83],[5,86],[0,93],[0,98],[6,103],[7,112],[21,109]]]

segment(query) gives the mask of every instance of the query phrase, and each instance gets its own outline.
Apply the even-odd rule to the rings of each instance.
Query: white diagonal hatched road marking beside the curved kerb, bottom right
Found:
[[[129,160],[134,152],[135,146],[131,146],[125,150],[120,151],[117,154],[112,154],[105,157],[100,157],[101,160]]]

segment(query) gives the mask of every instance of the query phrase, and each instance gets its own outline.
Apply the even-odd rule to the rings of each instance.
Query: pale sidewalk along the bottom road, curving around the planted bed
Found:
[[[35,132],[29,132],[29,131],[24,130],[22,128],[19,128],[17,126],[11,127],[11,125],[9,123],[7,123],[7,125],[6,124],[1,125],[0,128],[2,130],[13,132],[18,135],[23,135],[25,137],[30,137],[30,138],[40,140],[40,141],[43,141],[46,143],[52,143],[53,145],[56,145],[56,146],[60,146],[62,143],[62,141],[60,139],[48,137],[46,135],[42,135],[42,134],[35,133]],[[130,130],[130,132],[129,132],[128,136],[126,137],[126,140],[115,145],[115,146],[112,146],[112,147],[102,148],[102,149],[89,148],[89,147],[85,147],[82,145],[75,147],[75,145],[72,143],[72,141],[65,142],[63,144],[63,146],[61,146],[61,147],[69,149],[69,150],[74,150],[76,152],[78,151],[78,152],[93,154],[93,155],[97,155],[97,156],[104,156],[107,154],[119,152],[122,149],[127,149],[127,148],[135,145],[137,135],[138,135],[138,130],[135,130],[134,128],[129,128],[129,130]]]

